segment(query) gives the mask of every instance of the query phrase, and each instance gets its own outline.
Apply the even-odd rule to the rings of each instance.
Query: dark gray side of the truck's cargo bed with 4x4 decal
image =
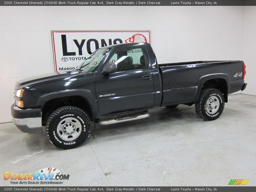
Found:
[[[194,103],[197,89],[201,90],[199,81],[207,75],[225,75],[230,90],[228,94],[241,90],[242,76],[235,74],[243,72],[243,61],[192,61],[181,63],[158,64],[162,78],[162,106]],[[218,78],[218,77],[217,77]],[[221,81],[218,79],[217,81]],[[231,86],[230,86],[231,85]]]

